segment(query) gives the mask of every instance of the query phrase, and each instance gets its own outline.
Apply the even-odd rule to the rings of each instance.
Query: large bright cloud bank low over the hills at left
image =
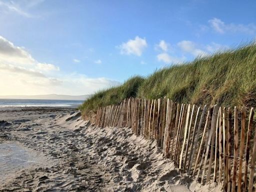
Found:
[[[54,73],[50,73],[54,70]],[[0,36],[0,94],[87,94],[118,84],[104,77],[66,73],[58,66],[38,62],[23,47]]]

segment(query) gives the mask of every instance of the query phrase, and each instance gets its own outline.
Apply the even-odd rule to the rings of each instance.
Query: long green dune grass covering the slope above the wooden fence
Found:
[[[124,98],[168,97],[177,102],[256,106],[256,44],[216,52],[191,62],[156,70],[142,78],[93,94],[80,107],[83,112],[117,104]]]

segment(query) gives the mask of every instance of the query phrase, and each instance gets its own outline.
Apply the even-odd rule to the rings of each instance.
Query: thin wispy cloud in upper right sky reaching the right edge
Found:
[[[241,33],[248,33],[254,34],[256,33],[256,25],[254,23],[250,24],[234,24],[234,23],[224,23],[219,18],[212,18],[208,20],[210,26],[218,33],[225,33],[225,32],[241,32]]]

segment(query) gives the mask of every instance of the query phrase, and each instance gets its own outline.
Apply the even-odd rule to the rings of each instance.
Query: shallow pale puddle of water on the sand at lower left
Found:
[[[36,156],[28,149],[14,142],[0,143],[0,181],[13,171],[37,163]]]

